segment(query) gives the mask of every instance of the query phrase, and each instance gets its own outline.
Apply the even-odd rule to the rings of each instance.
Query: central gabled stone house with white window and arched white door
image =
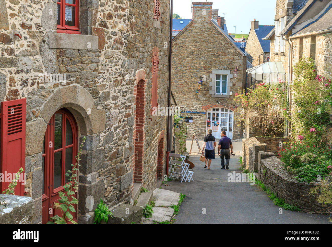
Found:
[[[247,53],[220,23],[212,2],[193,2],[193,20],[173,39],[172,92],[188,117],[188,138],[202,139],[210,128],[216,138],[222,130],[233,139],[242,135],[234,94],[245,87]]]

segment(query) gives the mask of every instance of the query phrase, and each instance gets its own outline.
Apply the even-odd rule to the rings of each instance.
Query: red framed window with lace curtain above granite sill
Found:
[[[81,34],[78,27],[79,0],[59,0],[57,4],[57,32]]]

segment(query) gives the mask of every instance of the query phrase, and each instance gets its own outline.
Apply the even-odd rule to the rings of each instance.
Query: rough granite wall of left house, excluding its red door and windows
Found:
[[[154,0],[81,0],[82,34],[64,34],[56,32],[56,2],[0,1],[0,100],[27,98],[25,190],[35,203],[34,223],[41,222],[42,215],[41,155],[47,123],[63,107],[74,115],[77,141],[87,137],[78,220],[92,223],[100,198],[110,206],[132,204],[137,71],[144,71],[146,102],[142,183],[148,190],[156,187],[158,141],[166,133],[167,118],[151,116],[152,49],[159,50],[158,104],[166,106],[170,6],[160,1],[158,26]],[[163,142],[166,147],[166,138]],[[159,163],[165,162],[163,155]]]

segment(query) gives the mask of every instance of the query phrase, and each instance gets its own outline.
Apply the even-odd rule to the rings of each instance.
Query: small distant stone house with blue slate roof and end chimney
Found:
[[[251,22],[246,51],[252,57],[252,61],[250,61],[252,66],[267,62],[270,58],[270,41],[262,38],[265,38],[273,28],[274,26],[271,25],[259,25],[256,19]]]

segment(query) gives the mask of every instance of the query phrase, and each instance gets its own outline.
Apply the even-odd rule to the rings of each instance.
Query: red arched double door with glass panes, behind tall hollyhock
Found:
[[[65,173],[75,164],[77,154],[77,125],[73,115],[65,108],[58,110],[48,123],[42,147],[42,223],[54,215],[62,216],[54,209],[54,203],[60,199],[59,191],[69,180]],[[75,194],[77,198],[77,194]],[[76,213],[73,214],[77,222]]]

